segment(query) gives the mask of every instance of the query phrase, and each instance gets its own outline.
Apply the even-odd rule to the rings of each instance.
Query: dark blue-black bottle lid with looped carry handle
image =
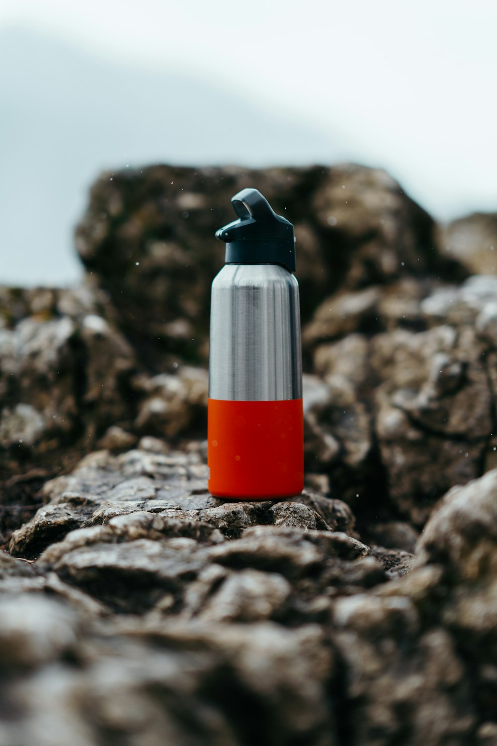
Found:
[[[257,189],[242,189],[231,199],[238,220],[216,231],[225,241],[227,264],[282,264],[295,272],[294,226],[276,215]]]

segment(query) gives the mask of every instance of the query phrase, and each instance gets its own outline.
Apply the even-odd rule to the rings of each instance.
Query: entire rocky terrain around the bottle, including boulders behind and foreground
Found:
[[[206,487],[243,186],[296,224],[292,501]],[[102,176],[85,282],[0,290],[2,746],[497,743],[495,226],[360,166]]]

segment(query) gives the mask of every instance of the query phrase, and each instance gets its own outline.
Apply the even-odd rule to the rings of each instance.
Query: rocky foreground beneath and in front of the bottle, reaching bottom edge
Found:
[[[446,495],[411,569],[340,501],[229,504],[205,468],[99,451],[45,485],[11,542],[36,559],[0,554],[2,743],[491,742],[497,470]]]

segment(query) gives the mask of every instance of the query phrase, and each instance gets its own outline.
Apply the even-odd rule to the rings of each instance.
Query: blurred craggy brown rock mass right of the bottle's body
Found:
[[[496,279],[477,275],[418,298],[409,325],[317,343],[308,468],[352,506],[362,496],[420,528],[447,489],[496,466],[496,300]]]

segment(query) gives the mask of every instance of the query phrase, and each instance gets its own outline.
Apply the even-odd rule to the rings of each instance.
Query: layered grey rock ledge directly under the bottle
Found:
[[[368,556],[369,549],[337,530],[355,533],[355,518],[346,504],[309,493],[299,501],[229,504],[212,498],[205,488],[191,489],[188,471],[194,469],[197,457],[195,451],[187,457],[143,451],[118,457],[102,451],[86,457],[71,476],[45,486],[51,501],[14,534],[11,551],[37,556],[48,545],[38,568],[45,574],[57,573],[63,584],[76,586],[119,612],[134,613],[139,604],[161,613],[161,609],[197,613],[189,583],[197,577],[199,591],[193,591],[194,596],[212,595],[201,590],[206,583],[201,571],[209,562],[228,568],[221,570],[221,580],[231,577],[229,568],[233,568],[247,570],[248,578],[252,571],[272,573],[281,578],[274,583],[285,588],[292,583],[288,605],[275,601],[271,615],[279,615],[284,607],[285,615],[308,621],[329,613],[326,595],[321,598],[326,589],[341,594],[384,582],[377,562],[352,567]],[[174,499],[167,501],[161,495]],[[224,539],[231,539],[229,548],[216,551]],[[316,572],[309,586],[303,573],[311,566]],[[261,580],[261,587],[266,587],[265,582]],[[230,580],[221,598],[231,598],[236,583]],[[268,594],[262,593],[261,608],[267,606]],[[236,612],[240,619],[249,614],[248,606],[243,608]],[[209,612],[209,618],[214,613]],[[266,616],[257,612],[254,618]]]

